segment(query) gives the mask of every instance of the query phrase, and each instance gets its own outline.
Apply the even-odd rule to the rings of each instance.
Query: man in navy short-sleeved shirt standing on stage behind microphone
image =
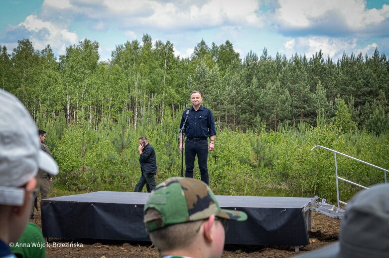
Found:
[[[186,116],[188,119],[185,123],[185,177],[193,178],[194,160],[197,155],[201,180],[209,185],[208,176],[208,150],[213,151],[215,148],[215,119],[212,111],[201,105],[203,97],[200,92],[193,91],[190,94],[192,107],[185,110],[180,123],[182,128]],[[189,112],[188,112],[189,111]],[[208,144],[208,137],[210,142]],[[180,135],[180,151],[183,148],[183,139]]]

